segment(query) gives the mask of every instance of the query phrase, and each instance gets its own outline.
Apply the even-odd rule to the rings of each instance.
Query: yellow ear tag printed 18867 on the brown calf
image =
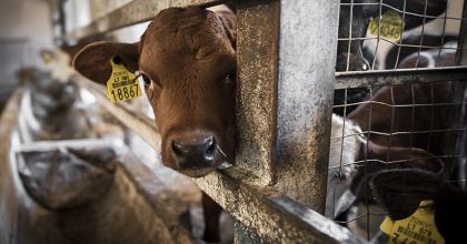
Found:
[[[127,70],[123,64],[117,64],[110,60],[112,74],[107,81],[107,98],[112,103],[130,100],[141,95],[138,79]]]

